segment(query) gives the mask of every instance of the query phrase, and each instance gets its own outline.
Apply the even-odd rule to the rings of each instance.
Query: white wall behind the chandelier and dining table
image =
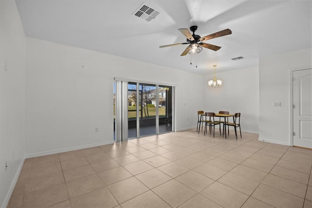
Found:
[[[258,133],[259,131],[259,67],[218,72],[222,80],[220,88],[209,88],[208,81],[214,74],[204,76],[204,111],[229,111],[241,113],[241,130]],[[215,117],[215,119],[218,119]],[[233,122],[233,118],[229,118]]]

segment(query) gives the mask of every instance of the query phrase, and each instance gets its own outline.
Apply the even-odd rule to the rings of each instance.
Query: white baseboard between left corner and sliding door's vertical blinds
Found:
[[[107,145],[107,144],[113,144],[113,143],[114,143],[114,140],[112,140],[112,141],[104,141],[104,142],[99,142],[99,143],[94,143],[94,144],[88,144],[88,145],[68,147],[68,148],[57,149],[57,150],[35,152],[35,153],[26,154],[25,158],[32,158],[32,157],[39,157],[39,156],[45,156],[45,155],[52,155],[52,154],[61,153],[61,152],[80,150],[80,149],[85,149],[85,148],[89,148],[89,147],[95,147],[95,146],[101,146],[101,145]]]

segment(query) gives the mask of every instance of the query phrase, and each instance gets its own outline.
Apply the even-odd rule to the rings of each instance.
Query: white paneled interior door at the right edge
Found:
[[[312,148],[312,69],[293,72],[293,145]]]

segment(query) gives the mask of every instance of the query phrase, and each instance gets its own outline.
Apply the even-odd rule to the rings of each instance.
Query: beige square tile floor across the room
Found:
[[[26,159],[8,208],[312,207],[312,150],[196,129]]]

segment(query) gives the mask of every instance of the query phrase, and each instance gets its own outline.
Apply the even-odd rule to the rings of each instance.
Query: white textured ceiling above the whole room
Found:
[[[200,74],[213,73],[214,64],[219,72],[235,70],[257,66],[259,57],[311,47],[312,1],[16,2],[27,37]],[[142,3],[160,14],[151,22],[132,15]],[[202,37],[232,30],[232,35],[206,41],[222,48],[204,48],[197,54],[197,68],[190,65],[190,55],[180,57],[187,45],[159,48],[186,42],[178,29],[192,25]],[[231,60],[238,56],[246,59]]]

